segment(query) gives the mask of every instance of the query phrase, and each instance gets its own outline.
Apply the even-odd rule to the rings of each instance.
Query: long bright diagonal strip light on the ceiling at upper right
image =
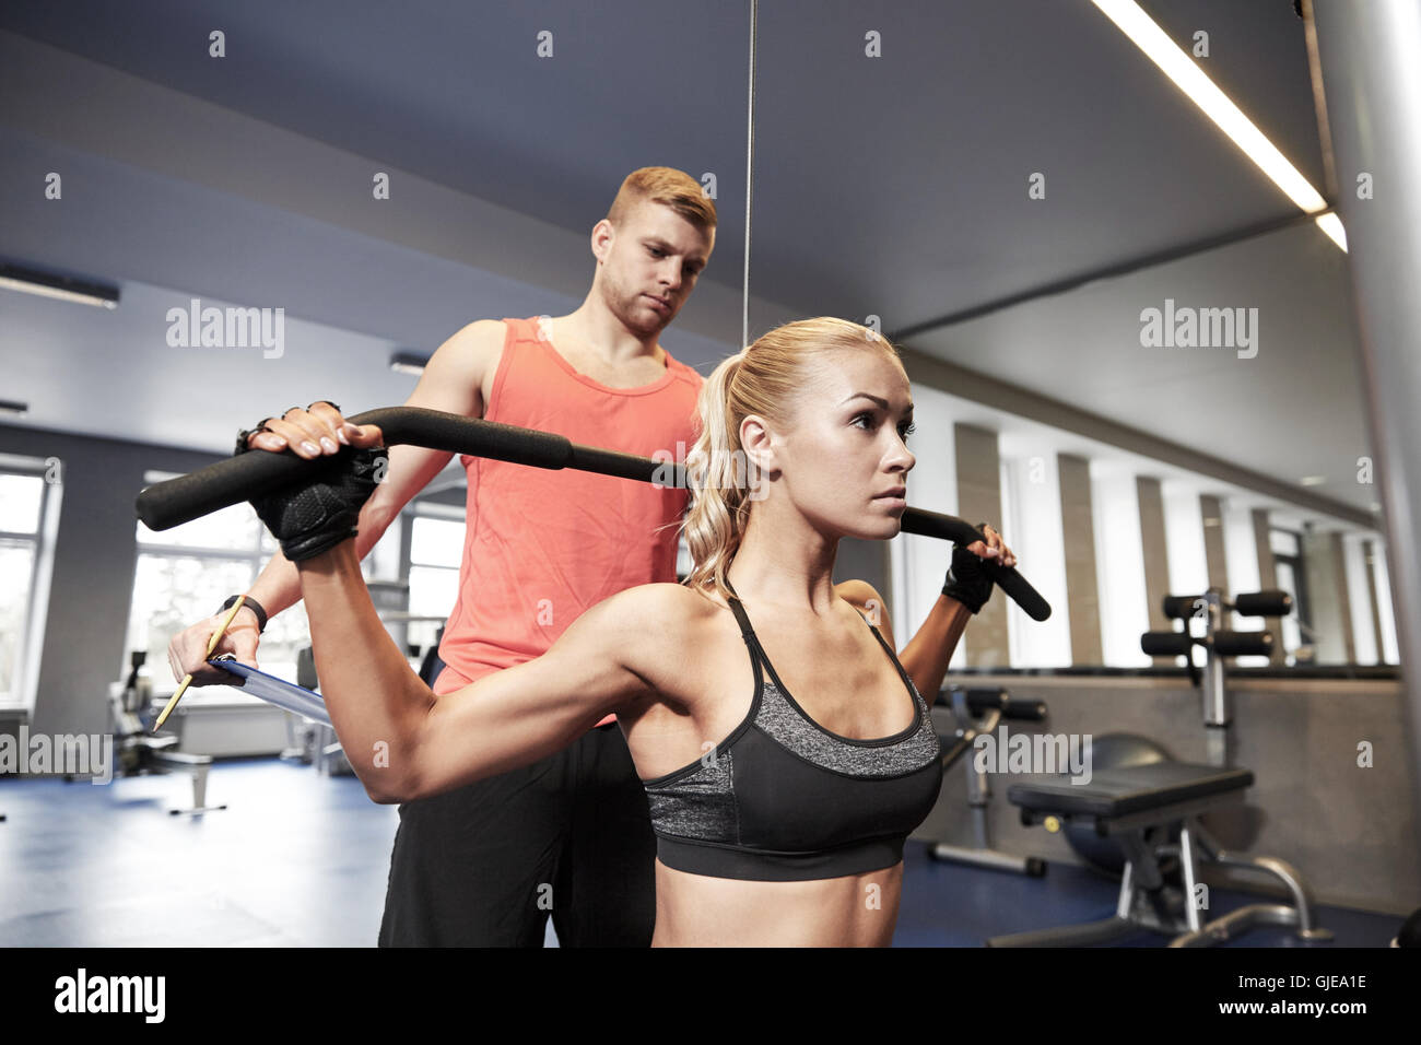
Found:
[[[1145,14],[1135,0],[1091,0],[1115,26],[1130,37],[1131,43],[1145,53],[1161,71],[1184,91],[1189,101],[1204,109],[1259,171],[1283,191],[1283,193],[1307,213],[1327,210],[1327,200],[1312,186],[1303,173],[1277,151],[1253,121],[1221,91],[1204,70],[1194,64],[1189,55],[1169,34]],[[1316,225],[1327,237],[1347,250],[1347,233],[1334,213],[1319,215]]]

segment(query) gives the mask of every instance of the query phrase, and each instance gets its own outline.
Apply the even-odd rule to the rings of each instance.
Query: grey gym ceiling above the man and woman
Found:
[[[1292,0],[1142,6],[1177,41],[1208,33],[1199,64],[1331,198]],[[576,307],[591,225],[651,164],[715,175],[716,250],[665,337],[705,370],[740,343],[749,36],[749,3],[705,0],[10,0],[0,257],[124,301],[0,291],[0,398],[28,425],[213,451],[291,402],[402,401],[391,351]],[[1086,0],[763,0],[753,168],[752,337],[1026,297],[905,344],[1371,512],[1346,257],[1314,227],[1033,296],[1296,213]],[[283,307],[284,358],[175,351],[162,317],[190,297]],[[1258,309],[1258,355],[1141,347],[1167,299]]]

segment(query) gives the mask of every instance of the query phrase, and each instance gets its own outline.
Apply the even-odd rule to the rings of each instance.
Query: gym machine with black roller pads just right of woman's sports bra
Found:
[[[958,759],[968,755],[976,746],[979,736],[990,736],[996,732],[1003,719],[1016,722],[1042,722],[1046,719],[1044,701],[1013,700],[1006,690],[982,688],[966,690],[958,685],[951,687],[948,700],[938,694],[936,704],[946,704],[958,721],[958,728],[952,736],[938,734],[944,742],[942,769],[949,769]],[[1037,856],[1012,856],[992,849],[989,842],[988,806],[992,799],[992,785],[986,769],[978,766],[975,758],[966,759],[968,773],[968,808],[972,810],[972,846],[953,846],[938,842],[928,846],[928,856],[934,860],[949,860],[973,867],[988,867],[990,870],[1006,870],[1030,877],[1046,874],[1046,860]]]

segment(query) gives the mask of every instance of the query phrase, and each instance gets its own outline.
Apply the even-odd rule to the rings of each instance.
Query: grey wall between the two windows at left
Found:
[[[144,472],[190,472],[217,458],[166,446],[0,427],[0,452],[63,462],[64,503],[31,729],[108,731],[108,684],[124,670]],[[213,607],[216,609],[216,607]]]

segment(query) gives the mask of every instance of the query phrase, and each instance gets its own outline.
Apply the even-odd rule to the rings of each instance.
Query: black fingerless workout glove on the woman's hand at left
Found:
[[[308,468],[298,482],[252,499],[257,518],[293,563],[355,536],[360,509],[385,478],[389,452],[384,446],[342,446]]]

